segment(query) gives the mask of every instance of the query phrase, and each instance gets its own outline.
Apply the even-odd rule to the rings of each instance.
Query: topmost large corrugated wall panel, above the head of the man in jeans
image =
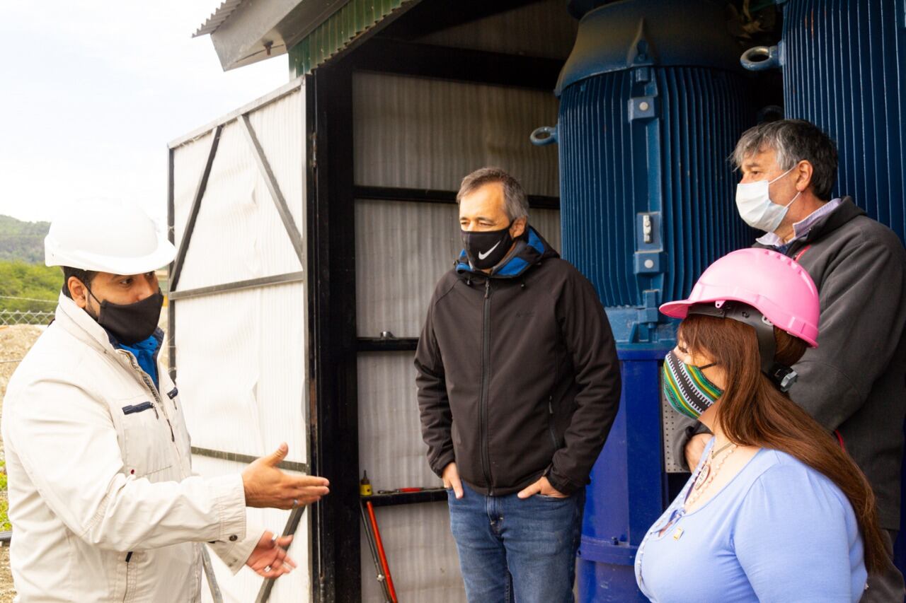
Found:
[[[528,136],[553,126],[548,91],[379,73],[352,79],[355,183],[458,190],[483,166],[506,169],[530,195],[557,196],[557,149]]]

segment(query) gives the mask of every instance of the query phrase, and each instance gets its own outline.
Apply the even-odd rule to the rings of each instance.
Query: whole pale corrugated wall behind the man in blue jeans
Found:
[[[517,36],[516,36],[517,37]],[[526,192],[558,193],[555,148],[528,134],[556,118],[557,101],[530,91],[455,81],[356,73],[355,183],[456,191],[476,168],[497,165]],[[355,208],[356,306],[360,337],[389,330],[418,337],[434,285],[461,249],[453,204],[359,199]],[[532,210],[529,223],[555,248],[559,212]],[[421,441],[412,352],[359,355],[359,457],[373,488],[439,486]],[[376,510],[400,600],[465,600],[446,503]],[[382,601],[362,537],[362,600]]]

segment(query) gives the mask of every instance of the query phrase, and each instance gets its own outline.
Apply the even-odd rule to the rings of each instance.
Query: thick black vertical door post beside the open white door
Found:
[[[324,65],[306,80],[313,108],[309,162],[311,463],[330,480],[312,531],[313,599],[361,600],[359,417],[356,367],[352,65]]]

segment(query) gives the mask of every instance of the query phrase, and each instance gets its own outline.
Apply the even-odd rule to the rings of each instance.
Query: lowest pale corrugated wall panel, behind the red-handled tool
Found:
[[[466,600],[447,503],[407,504],[374,510],[390,576],[400,601],[458,603]],[[361,600],[384,603],[374,560],[361,534]]]

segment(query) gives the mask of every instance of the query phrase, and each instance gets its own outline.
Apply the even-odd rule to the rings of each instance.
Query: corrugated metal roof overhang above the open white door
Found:
[[[224,71],[285,54],[311,71],[415,0],[226,0],[193,37],[208,34]]]

